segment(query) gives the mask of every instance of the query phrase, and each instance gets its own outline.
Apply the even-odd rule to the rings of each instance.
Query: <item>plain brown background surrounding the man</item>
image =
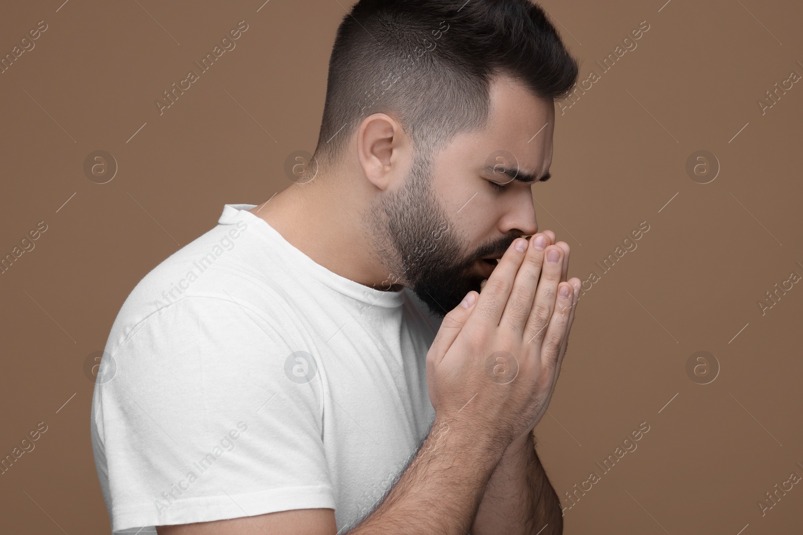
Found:
[[[48,426],[0,475],[4,533],[108,533],[84,361],[140,278],[224,203],[287,187],[287,155],[315,146],[350,6],[61,1],[0,13],[2,55],[48,26],[0,74],[0,253],[47,224],[0,274],[0,454]],[[764,316],[757,301],[803,275],[803,83],[764,116],[756,100],[803,74],[803,7],[663,2],[544,4],[581,79],[639,22],[650,30],[557,112],[554,178],[534,187],[540,229],[571,245],[569,272],[584,280],[641,221],[650,230],[581,298],[540,455],[566,506],[601,475],[565,512],[567,534],[800,533],[803,485],[764,517],[757,503],[803,476],[803,285]],[[242,20],[236,48],[160,116],[154,100]],[[84,175],[99,149],[119,166],[107,184]],[[721,166],[708,184],[686,172],[701,149]],[[715,355],[712,383],[687,375],[695,351]],[[638,449],[602,474],[595,462],[645,421]]]

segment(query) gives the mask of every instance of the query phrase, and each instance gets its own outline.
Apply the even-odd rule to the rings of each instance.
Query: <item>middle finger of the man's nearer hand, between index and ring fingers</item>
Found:
[[[524,331],[524,324],[532,309],[532,299],[536,295],[541,265],[544,264],[544,249],[549,245],[552,245],[552,241],[544,233],[530,237],[524,261],[516,272],[510,298],[507,299],[502,318],[499,319],[499,326],[505,326],[519,336]]]

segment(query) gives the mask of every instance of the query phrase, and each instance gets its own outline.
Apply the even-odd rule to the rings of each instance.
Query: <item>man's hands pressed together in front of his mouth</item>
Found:
[[[549,237],[538,249],[540,236],[513,242],[479,298],[470,292],[467,307],[446,314],[427,355],[436,422],[503,448],[546,411],[580,288],[578,278],[562,281],[569,246],[551,245]]]

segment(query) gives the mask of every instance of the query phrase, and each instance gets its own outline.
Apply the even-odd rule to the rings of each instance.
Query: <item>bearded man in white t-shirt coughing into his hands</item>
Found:
[[[112,326],[113,531],[561,533],[532,429],[580,280],[532,184],[576,78],[527,0],[358,2],[308,167],[226,205]]]

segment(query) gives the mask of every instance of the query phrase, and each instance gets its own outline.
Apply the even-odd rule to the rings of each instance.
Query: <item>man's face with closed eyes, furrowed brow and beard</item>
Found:
[[[495,265],[483,258],[538,232],[534,181],[521,180],[547,174],[554,117],[551,101],[497,79],[485,130],[456,136],[430,162],[413,162],[404,184],[377,206],[384,221],[377,248],[390,283],[409,287],[441,317],[479,292]]]

